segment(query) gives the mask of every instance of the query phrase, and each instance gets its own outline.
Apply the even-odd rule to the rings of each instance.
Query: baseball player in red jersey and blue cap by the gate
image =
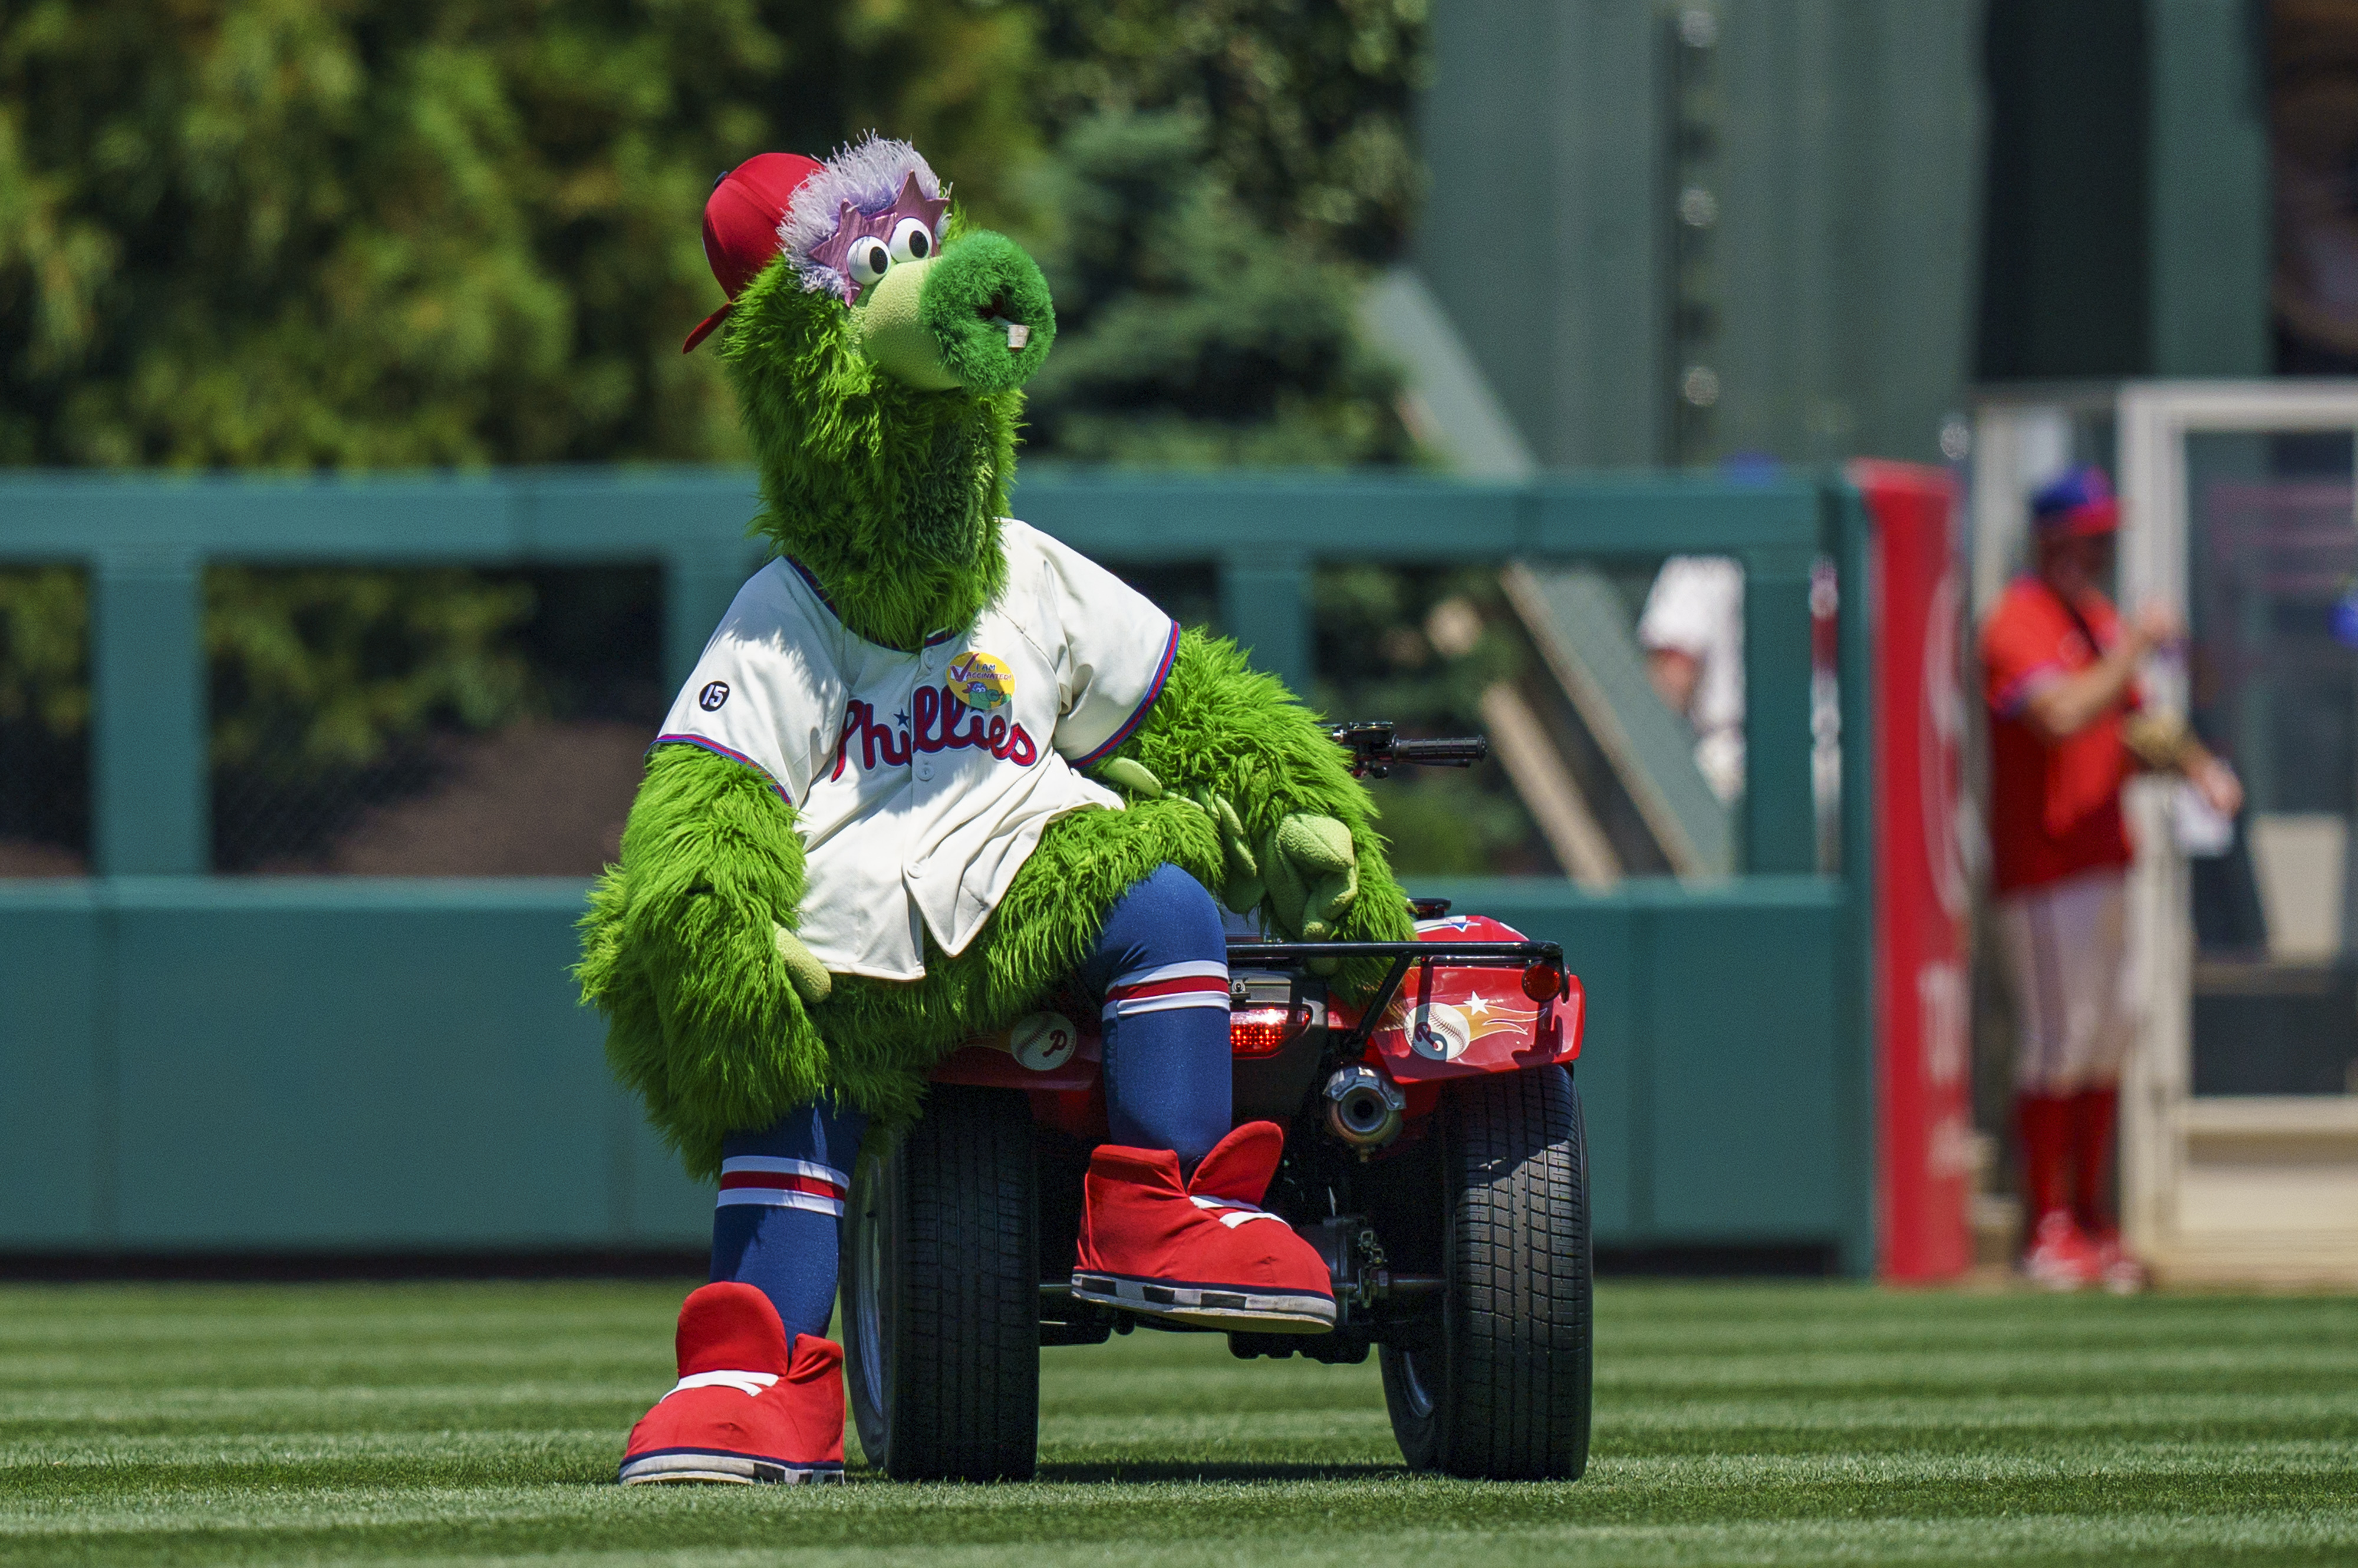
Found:
[[[2139,769],[2176,771],[2233,816],[2242,785],[2181,722],[2141,712],[2136,665],[2184,625],[2148,604],[2125,627],[2103,597],[2120,528],[2103,469],[2066,474],[2030,512],[2035,571],[1981,627],[1997,934],[2021,1012],[2023,1273],[2059,1290],[2134,1290],[2143,1271],[2106,1205],[2134,1028],[2120,788]]]

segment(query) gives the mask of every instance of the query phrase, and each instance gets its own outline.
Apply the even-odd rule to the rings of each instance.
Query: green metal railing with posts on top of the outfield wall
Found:
[[[1295,691],[1311,681],[1320,559],[1507,561],[1733,554],[1745,564],[1745,870],[1816,865],[1809,566],[1842,547],[1839,486],[1552,479],[1523,486],[1342,474],[1033,474],[1014,509],[1094,554],[1210,561],[1221,627]],[[78,561],[92,585],[92,863],[208,868],[208,561],[516,566],[656,561],[665,677],[681,679],[759,559],[743,469],[0,481],[0,564]],[[1849,660],[1851,653],[1846,651]],[[1849,670],[1846,670],[1849,674]],[[1844,689],[1856,681],[1844,679]]]

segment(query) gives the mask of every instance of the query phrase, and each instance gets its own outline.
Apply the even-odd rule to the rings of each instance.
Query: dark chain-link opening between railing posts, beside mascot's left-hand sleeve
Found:
[[[663,717],[653,566],[205,582],[212,868],[594,875]]]

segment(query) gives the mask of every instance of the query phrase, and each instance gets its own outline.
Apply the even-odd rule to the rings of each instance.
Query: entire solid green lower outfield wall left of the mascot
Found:
[[[0,1247],[707,1238],[573,1000],[580,884],[80,887],[0,891]]]

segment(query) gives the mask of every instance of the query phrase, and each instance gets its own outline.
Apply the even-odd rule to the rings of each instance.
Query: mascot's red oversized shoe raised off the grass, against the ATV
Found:
[[[1082,1188],[1073,1297],[1196,1327],[1335,1327],[1325,1259],[1259,1207],[1280,1153],[1276,1122],[1245,1122],[1181,1184],[1172,1151],[1101,1144]]]

